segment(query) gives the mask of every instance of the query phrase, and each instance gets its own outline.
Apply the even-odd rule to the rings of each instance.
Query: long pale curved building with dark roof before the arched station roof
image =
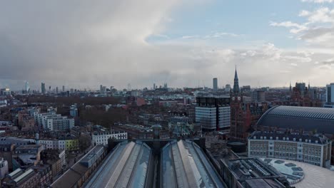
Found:
[[[330,167],[332,141],[323,135],[255,131],[248,137],[248,157],[295,160]]]

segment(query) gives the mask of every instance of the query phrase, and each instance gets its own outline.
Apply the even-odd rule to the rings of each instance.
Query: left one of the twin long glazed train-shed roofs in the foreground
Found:
[[[143,142],[121,142],[85,187],[151,187],[152,150]]]

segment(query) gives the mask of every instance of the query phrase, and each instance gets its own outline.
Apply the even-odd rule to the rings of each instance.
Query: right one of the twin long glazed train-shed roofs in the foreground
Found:
[[[161,187],[226,187],[203,150],[189,140],[163,147],[160,175]]]

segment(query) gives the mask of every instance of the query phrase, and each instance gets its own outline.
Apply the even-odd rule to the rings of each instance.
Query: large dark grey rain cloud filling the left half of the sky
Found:
[[[154,58],[162,64],[173,59],[146,38],[163,32],[179,4],[1,1],[0,79],[126,85],[151,74]]]

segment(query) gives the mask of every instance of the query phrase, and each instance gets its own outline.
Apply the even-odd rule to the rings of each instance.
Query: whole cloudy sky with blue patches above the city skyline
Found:
[[[334,82],[334,0],[0,0],[0,88]]]

